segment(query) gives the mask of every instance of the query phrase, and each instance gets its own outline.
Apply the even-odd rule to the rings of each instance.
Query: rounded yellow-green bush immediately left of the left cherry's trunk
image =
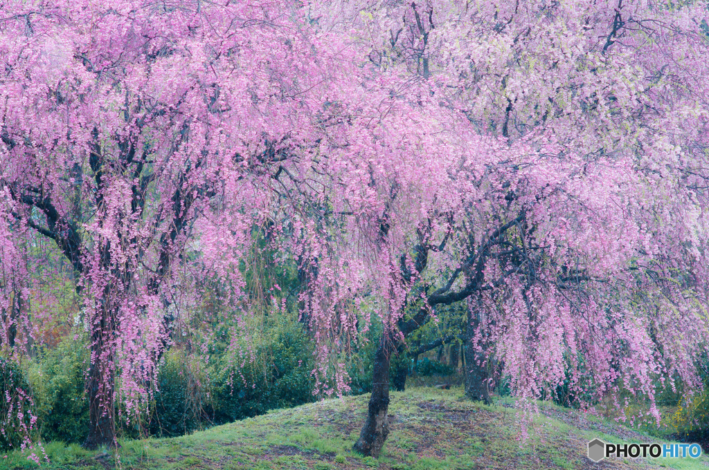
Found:
[[[89,400],[84,372],[88,365],[86,343],[69,336],[30,368],[43,440],[81,443],[86,439]]]

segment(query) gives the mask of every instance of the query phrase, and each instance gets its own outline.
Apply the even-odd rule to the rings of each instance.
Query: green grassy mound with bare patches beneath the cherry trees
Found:
[[[586,444],[653,442],[652,437],[540,403],[526,442],[511,401],[481,406],[461,389],[393,392],[391,434],[379,459],[351,452],[368,396],[272,411],[193,435],[121,442],[113,452],[86,452],[59,442],[45,446],[48,469],[709,469],[709,459],[612,459],[593,464]],[[36,468],[19,452],[0,456],[0,469]]]

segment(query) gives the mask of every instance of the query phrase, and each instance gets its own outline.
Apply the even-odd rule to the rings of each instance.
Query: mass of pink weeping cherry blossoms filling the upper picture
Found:
[[[255,227],[304,273],[325,393],[346,389],[340,355],[370,312],[396,349],[454,302],[519,396],[698,385],[705,4],[18,1],[0,16],[0,302],[28,296],[30,234],[56,241],[91,338],[89,440],[113,425],[116,374],[130,407],[147,399],[206,280],[217,317],[248,314]],[[31,335],[23,315],[4,331]]]

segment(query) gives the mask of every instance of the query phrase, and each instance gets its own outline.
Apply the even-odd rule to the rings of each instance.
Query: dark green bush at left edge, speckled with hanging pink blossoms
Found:
[[[0,450],[29,445],[34,424],[30,386],[22,369],[6,357],[0,357],[0,397]]]

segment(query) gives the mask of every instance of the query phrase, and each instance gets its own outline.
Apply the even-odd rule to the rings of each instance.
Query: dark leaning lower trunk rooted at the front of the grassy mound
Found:
[[[379,457],[386,436],[389,435],[387,412],[389,411],[389,362],[392,350],[393,345],[386,336],[383,336],[374,355],[372,397],[369,399],[367,421],[359,434],[359,440],[353,447],[365,457]]]

